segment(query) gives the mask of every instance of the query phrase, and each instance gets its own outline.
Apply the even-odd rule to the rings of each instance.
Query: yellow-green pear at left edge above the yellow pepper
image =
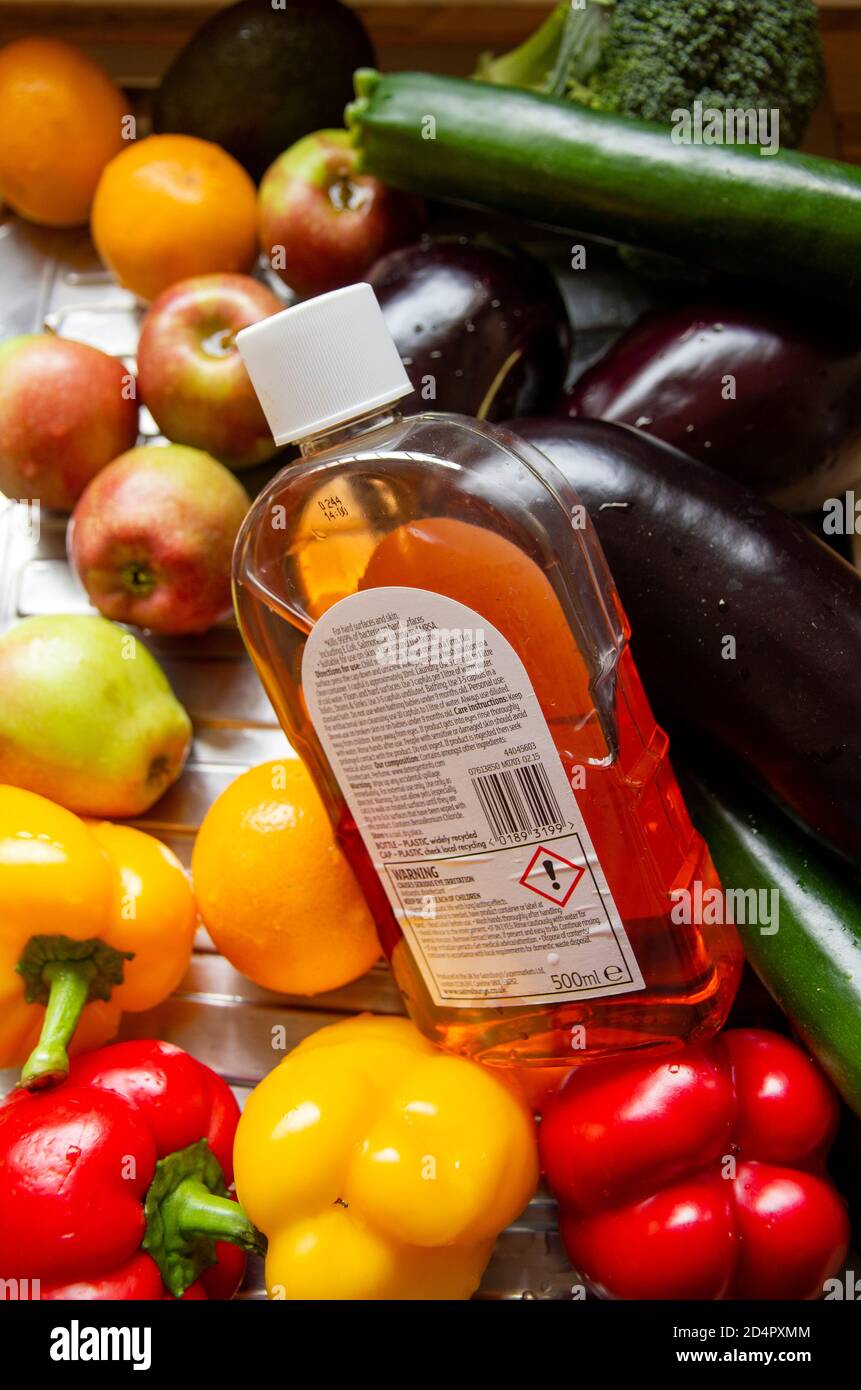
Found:
[[[0,637],[0,783],[82,816],[139,816],[182,771],[192,726],[139,638],[103,617]]]

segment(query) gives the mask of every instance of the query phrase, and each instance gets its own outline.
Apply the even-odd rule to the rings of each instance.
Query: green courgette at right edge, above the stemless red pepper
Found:
[[[776,890],[776,931],[736,922],[747,959],[846,1102],[861,1115],[857,877],[758,794],[747,788],[716,791],[711,781],[689,776],[683,787],[723,887],[757,894]]]

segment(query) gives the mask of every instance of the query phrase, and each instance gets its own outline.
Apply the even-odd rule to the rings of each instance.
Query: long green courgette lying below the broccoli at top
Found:
[[[346,122],[395,188],[566,231],[861,297],[861,168],[423,72],[360,68]]]

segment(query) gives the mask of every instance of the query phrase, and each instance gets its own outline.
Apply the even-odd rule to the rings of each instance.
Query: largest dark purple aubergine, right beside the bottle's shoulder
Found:
[[[637,430],[509,428],[591,516],[658,717],[733,753],[861,863],[861,575],[793,517]]]

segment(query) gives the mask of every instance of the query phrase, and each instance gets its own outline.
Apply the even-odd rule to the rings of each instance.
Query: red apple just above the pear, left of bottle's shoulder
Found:
[[[78,502],[70,560],[104,617],[204,632],[230,612],[231,556],[248,506],[239,480],[200,449],[131,449]]]

